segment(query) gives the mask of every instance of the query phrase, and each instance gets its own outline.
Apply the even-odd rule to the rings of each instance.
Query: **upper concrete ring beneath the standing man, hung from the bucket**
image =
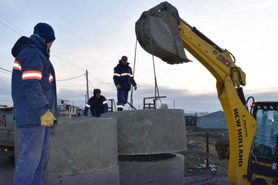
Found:
[[[118,121],[118,154],[139,155],[186,149],[184,110],[147,109],[108,112]]]

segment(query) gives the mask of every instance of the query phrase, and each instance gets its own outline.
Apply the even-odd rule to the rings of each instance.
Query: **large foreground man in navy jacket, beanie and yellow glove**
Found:
[[[44,184],[50,127],[57,115],[55,71],[49,60],[54,40],[53,28],[40,22],[34,34],[22,36],[12,48],[12,97],[20,128],[13,184]]]

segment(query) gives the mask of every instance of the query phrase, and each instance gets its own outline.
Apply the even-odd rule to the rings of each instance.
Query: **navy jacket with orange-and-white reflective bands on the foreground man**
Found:
[[[16,57],[12,97],[17,126],[40,125],[41,116],[48,109],[57,117],[56,77],[47,44],[36,35],[23,36],[16,42],[12,54]]]

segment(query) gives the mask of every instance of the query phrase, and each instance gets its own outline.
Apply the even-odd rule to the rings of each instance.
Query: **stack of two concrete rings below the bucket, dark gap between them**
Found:
[[[108,112],[118,123],[120,184],[184,184],[184,110]]]

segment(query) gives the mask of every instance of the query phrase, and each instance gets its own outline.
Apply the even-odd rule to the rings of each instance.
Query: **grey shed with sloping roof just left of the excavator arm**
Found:
[[[228,128],[222,110],[197,117],[197,127],[201,128]]]

